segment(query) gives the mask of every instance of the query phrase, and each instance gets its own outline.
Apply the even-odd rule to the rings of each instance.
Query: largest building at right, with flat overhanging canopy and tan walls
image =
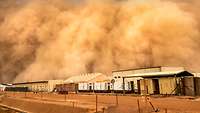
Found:
[[[151,67],[112,72],[114,90],[145,94],[194,95],[193,75],[183,67]],[[190,87],[189,89],[186,87]]]

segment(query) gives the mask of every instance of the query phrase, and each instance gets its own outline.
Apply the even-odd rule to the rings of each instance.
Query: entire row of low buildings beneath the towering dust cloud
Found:
[[[24,89],[23,89],[24,88]],[[183,67],[151,67],[113,71],[112,76],[89,73],[66,80],[14,83],[6,91],[66,93],[131,93],[141,95],[200,95],[200,78]]]

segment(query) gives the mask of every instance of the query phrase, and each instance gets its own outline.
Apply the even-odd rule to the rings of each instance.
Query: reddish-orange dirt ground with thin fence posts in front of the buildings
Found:
[[[200,98],[108,94],[4,93],[1,103],[31,113],[200,113]],[[152,104],[152,105],[151,105]]]

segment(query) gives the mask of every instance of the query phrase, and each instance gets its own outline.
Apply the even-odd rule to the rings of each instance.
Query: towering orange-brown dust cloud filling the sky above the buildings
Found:
[[[1,0],[0,81],[184,66],[200,71],[198,0]]]

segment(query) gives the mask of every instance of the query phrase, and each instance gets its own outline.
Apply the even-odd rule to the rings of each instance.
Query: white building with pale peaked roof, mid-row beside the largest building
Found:
[[[111,79],[102,73],[86,73],[69,77],[64,84],[77,84],[79,92],[103,92],[112,89]]]

